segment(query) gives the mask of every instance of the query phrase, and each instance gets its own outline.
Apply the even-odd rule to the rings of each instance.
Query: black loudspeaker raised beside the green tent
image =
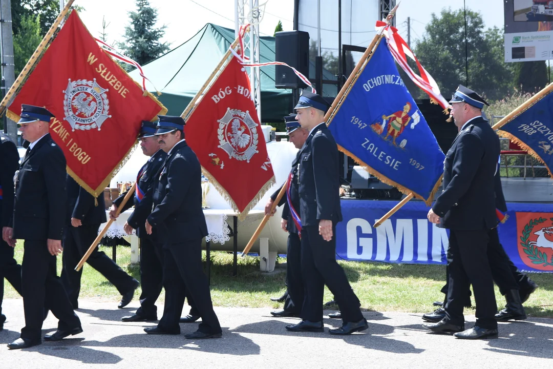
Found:
[[[277,32],[275,34],[275,60],[294,67],[309,78],[309,33],[304,31]],[[289,67],[275,65],[277,89],[303,89],[307,85]]]

